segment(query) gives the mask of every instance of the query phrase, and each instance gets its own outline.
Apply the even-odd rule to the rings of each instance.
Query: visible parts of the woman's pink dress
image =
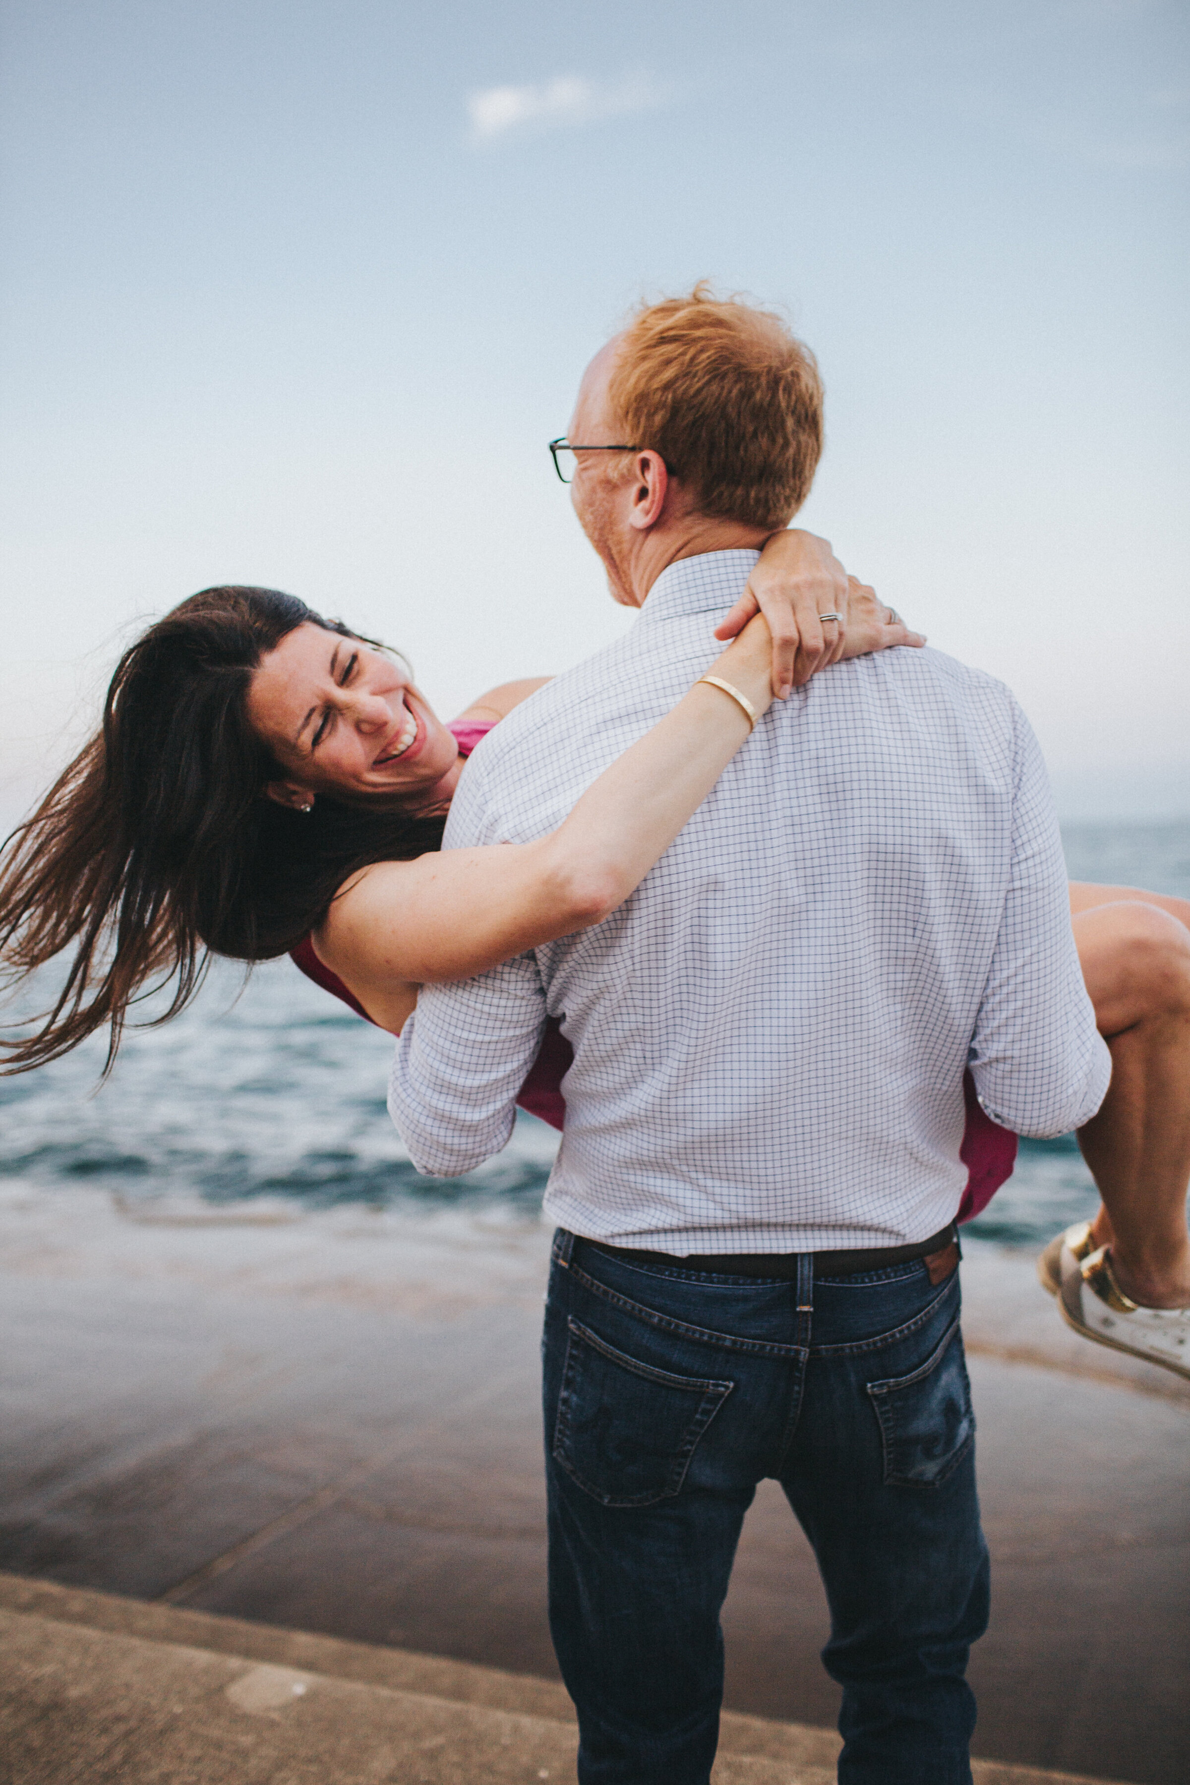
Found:
[[[459,755],[469,757],[478,741],[487,737],[492,725],[496,725],[494,719],[455,719],[448,730],[451,730],[459,741]],[[309,980],[314,980],[314,984],[321,985],[323,991],[341,998],[343,1003],[350,1005],[351,1010],[357,1012],[357,1016],[362,1016],[371,1023],[371,1017],[364,1010],[359,998],[348,991],[337,973],[332,973],[330,967],[325,967],[318,959],[314,953],[314,942],[309,935],[305,935],[298,946],[289,951],[289,959],[302,967]],[[521,1085],[517,1103],[523,1110],[528,1110],[530,1116],[539,1116],[542,1121],[550,1123],[551,1128],[562,1128],[566,1121],[562,1078],[569,1071],[573,1060],[574,1050],[562,1034],[557,1017],[550,1017],[541,1042],[541,1051],[530,1067],[528,1078]],[[967,1167],[967,1189],[963,1191],[963,1200],[958,1205],[958,1219],[971,1221],[981,1208],[987,1208],[1001,1183],[1012,1176],[1012,1167],[1017,1162],[1017,1137],[985,1114],[979,1100],[976,1098],[976,1087],[971,1073],[963,1073],[963,1100],[967,1103],[967,1128],[963,1132],[963,1144],[958,1150],[958,1157]]]

